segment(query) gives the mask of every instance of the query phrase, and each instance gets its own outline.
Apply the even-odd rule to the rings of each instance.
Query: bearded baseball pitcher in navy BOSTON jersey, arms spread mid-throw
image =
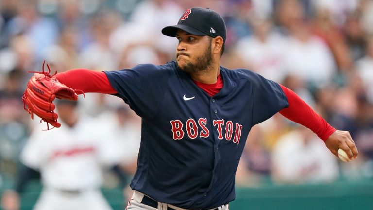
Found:
[[[80,93],[76,90],[114,94],[142,118],[128,210],[228,210],[248,133],[277,112],[311,129],[333,154],[341,148],[350,158],[357,157],[350,134],[330,126],[293,91],[250,70],[220,66],[226,28],[218,13],[188,9],[177,25],[162,33],[179,41],[176,60],[119,71],[35,73],[39,79],[24,96],[25,108],[54,126],[59,124],[50,108],[53,97],[45,100],[34,91],[44,78],[71,93],[54,91],[55,97],[74,100],[70,96]]]

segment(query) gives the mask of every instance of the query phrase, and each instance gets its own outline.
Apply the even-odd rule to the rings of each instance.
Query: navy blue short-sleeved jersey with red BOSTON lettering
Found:
[[[105,72],[142,118],[134,190],[185,209],[235,199],[235,174],[247,135],[288,106],[281,87],[244,69],[220,67],[224,82],[210,97],[176,62]]]

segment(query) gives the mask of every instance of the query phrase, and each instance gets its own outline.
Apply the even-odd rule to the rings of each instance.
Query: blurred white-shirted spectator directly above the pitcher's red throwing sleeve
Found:
[[[317,89],[328,84],[336,72],[335,62],[328,46],[311,33],[305,22],[303,6],[297,0],[282,0],[277,18],[287,31],[284,68]]]

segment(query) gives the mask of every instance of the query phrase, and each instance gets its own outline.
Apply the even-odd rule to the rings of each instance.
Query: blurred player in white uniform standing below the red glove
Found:
[[[34,210],[111,210],[100,186],[104,169],[120,163],[123,148],[105,138],[97,120],[80,117],[76,102],[56,105],[60,129],[36,128],[21,161],[40,171],[43,191]]]

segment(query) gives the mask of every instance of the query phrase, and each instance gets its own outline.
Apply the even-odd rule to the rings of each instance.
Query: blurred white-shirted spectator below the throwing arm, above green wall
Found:
[[[300,127],[273,149],[273,179],[278,183],[320,183],[338,178],[337,157],[312,131]]]

